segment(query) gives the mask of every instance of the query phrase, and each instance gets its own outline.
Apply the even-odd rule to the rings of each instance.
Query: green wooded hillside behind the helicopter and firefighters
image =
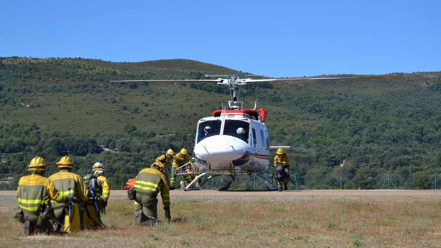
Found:
[[[229,96],[212,84],[108,81],[205,74],[245,73],[190,60],[0,58],[0,173],[18,179],[40,154],[50,174],[71,154],[80,174],[103,161],[118,188],[168,147],[191,150],[197,120]],[[257,94],[258,107],[269,110],[271,145],[292,146],[300,188],[339,188],[340,175],[345,188],[379,188],[388,174],[398,188],[433,188],[441,164],[441,73],[392,76],[261,83],[244,87],[241,97],[251,107]],[[252,184],[243,176],[234,185]]]

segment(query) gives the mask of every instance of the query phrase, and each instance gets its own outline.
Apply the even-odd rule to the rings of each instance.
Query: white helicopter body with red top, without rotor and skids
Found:
[[[194,160],[199,172],[251,174],[268,169],[266,110],[217,110],[198,121]],[[207,128],[208,127],[208,128]]]

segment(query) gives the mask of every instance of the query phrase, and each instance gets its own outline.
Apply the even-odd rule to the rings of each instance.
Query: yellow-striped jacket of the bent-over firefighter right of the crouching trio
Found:
[[[170,194],[168,182],[164,174],[155,168],[144,168],[135,177],[136,193],[149,195],[156,198],[161,192],[162,203],[164,206],[170,205]]]

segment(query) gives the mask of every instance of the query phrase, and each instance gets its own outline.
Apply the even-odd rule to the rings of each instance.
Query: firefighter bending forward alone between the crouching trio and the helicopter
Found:
[[[165,217],[170,221],[170,196],[167,178],[164,175],[165,165],[154,162],[150,168],[142,169],[135,178],[135,223],[158,225],[158,200],[156,196],[161,192],[164,204]]]

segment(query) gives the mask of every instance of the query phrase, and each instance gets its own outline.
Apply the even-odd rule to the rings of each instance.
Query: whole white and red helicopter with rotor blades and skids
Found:
[[[191,176],[189,183],[180,182],[183,190],[197,190],[209,179],[219,175],[229,175],[230,181],[219,188],[227,190],[237,175],[254,175],[264,183],[268,190],[276,190],[269,172],[270,150],[290,148],[290,146],[270,146],[265,120],[268,111],[257,109],[257,99],[252,109],[244,108],[239,101],[241,86],[260,82],[288,82],[310,80],[369,80],[393,79],[389,76],[352,77],[297,77],[254,79],[261,75],[205,75],[197,80],[118,80],[110,82],[149,82],[149,83],[216,83],[230,90],[228,107],[214,110],[211,116],[198,120],[194,140],[192,161],[178,167],[176,175]],[[210,79],[218,77],[217,79]],[[246,78],[242,78],[246,77]]]

